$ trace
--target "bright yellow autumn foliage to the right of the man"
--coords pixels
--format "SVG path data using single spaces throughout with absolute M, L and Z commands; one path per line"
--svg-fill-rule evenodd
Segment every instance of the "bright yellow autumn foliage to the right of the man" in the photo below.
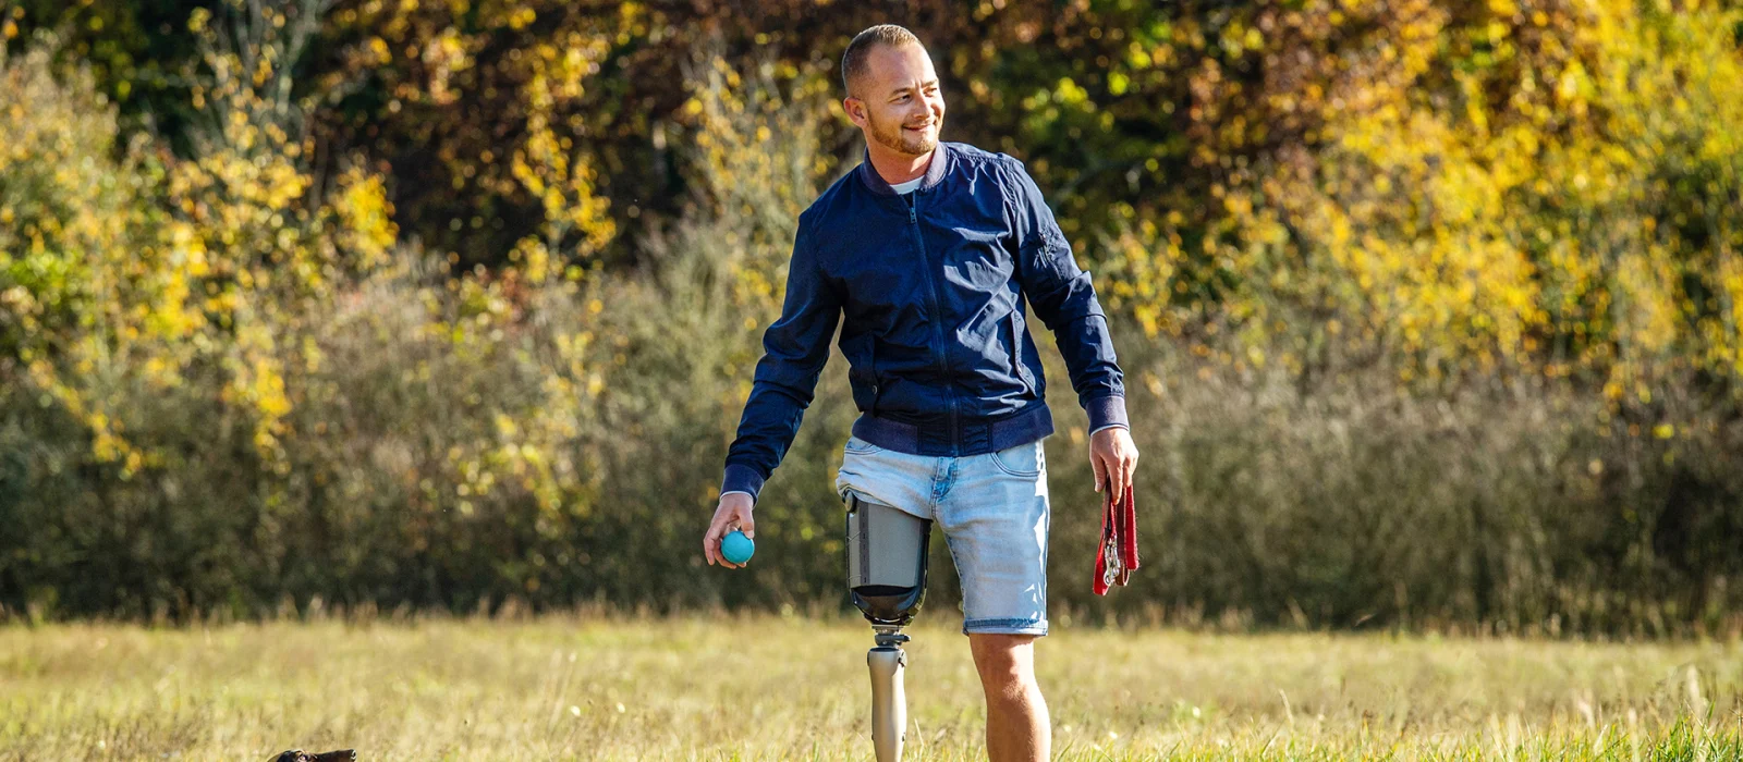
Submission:
M 1116 231 L 1110 303 L 1152 336 L 1384 348 L 1410 383 L 1619 390 L 1684 358 L 1743 378 L 1740 14 L 1600 0 L 1539 10 L 1527 35 L 1511 0 L 1489 5 L 1489 49 L 1457 66 L 1447 9 L 1394 5 L 1408 33 L 1306 87 L 1328 104 L 1314 153 L 1229 172 L 1197 245 L 1168 221 Z

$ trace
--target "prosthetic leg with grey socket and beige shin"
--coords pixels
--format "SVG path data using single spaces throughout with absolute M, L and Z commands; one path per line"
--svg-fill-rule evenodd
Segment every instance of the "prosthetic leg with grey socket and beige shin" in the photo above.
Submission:
M 908 698 L 901 687 L 908 654 L 901 628 L 926 598 L 926 557 L 933 522 L 847 492 L 847 588 L 872 623 L 872 746 L 878 762 L 901 759 Z

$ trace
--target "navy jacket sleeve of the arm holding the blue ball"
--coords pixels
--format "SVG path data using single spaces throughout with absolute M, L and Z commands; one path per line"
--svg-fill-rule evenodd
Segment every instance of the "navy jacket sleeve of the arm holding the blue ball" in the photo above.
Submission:
M 751 395 L 744 400 L 739 435 L 727 449 L 720 494 L 746 492 L 751 501 L 793 444 L 798 423 L 810 405 L 830 339 L 840 322 L 840 294 L 823 280 L 810 237 L 800 221 L 793 257 L 786 271 L 786 301 L 781 318 L 763 332 L 763 357 L 756 360 Z

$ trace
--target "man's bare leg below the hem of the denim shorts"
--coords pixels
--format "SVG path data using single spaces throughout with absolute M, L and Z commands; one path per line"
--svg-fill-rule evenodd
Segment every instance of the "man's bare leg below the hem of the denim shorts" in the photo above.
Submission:
M 969 651 L 987 692 L 987 759 L 1046 760 L 1053 725 L 1035 682 L 1035 637 L 969 633 Z

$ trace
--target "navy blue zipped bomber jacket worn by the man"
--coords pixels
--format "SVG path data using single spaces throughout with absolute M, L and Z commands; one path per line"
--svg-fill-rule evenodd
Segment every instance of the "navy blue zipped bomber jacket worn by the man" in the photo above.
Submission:
M 939 143 L 920 186 L 903 195 L 866 157 L 798 217 L 786 301 L 763 332 L 720 492 L 756 499 L 793 444 L 844 315 L 856 437 L 960 458 L 1053 433 L 1025 296 L 1058 339 L 1089 430 L 1126 426 L 1107 315 L 1023 164 Z

